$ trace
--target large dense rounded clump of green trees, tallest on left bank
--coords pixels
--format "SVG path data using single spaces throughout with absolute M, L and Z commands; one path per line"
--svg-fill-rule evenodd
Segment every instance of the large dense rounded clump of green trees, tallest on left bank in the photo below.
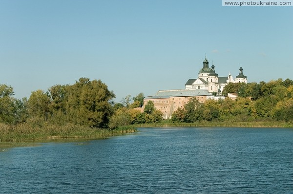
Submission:
M 28 99 L 30 117 L 39 117 L 50 123 L 74 123 L 106 128 L 115 95 L 101 80 L 80 78 L 74 85 L 56 85 L 33 91 Z

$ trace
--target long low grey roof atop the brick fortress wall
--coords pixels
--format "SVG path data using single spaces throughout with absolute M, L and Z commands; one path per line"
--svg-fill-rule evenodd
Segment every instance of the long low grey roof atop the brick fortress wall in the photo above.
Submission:
M 213 96 L 205 89 L 174 89 L 159 90 L 153 96 L 147 96 L 146 99 L 169 98 L 169 97 L 187 97 L 187 96 Z

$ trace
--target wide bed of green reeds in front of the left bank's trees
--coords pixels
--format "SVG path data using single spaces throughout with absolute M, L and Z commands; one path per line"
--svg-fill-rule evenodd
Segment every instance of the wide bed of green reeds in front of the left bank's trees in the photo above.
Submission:
M 65 124 L 55 125 L 41 123 L 32 125 L 21 123 L 8 125 L 0 123 L 0 142 L 21 142 L 65 138 L 107 138 L 135 132 L 134 126 L 119 127 L 114 130 L 91 128 L 81 125 Z

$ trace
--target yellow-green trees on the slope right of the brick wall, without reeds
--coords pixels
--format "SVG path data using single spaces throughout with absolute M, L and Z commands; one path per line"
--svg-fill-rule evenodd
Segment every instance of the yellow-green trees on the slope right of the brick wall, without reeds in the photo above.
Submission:
M 208 100 L 205 104 L 192 99 L 173 113 L 172 121 L 293 121 L 293 80 L 229 83 L 222 94 L 227 97 L 228 93 L 236 93 L 238 97 Z

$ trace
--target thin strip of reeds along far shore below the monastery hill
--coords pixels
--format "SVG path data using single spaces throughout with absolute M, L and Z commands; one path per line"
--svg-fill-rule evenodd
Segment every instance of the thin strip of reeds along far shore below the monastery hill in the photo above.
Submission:
M 253 121 L 253 122 L 208 122 L 200 121 L 197 123 L 145 123 L 145 124 L 135 124 L 135 127 L 163 127 L 163 126 L 206 126 L 206 127 L 293 127 L 292 123 L 286 123 L 284 121 Z

